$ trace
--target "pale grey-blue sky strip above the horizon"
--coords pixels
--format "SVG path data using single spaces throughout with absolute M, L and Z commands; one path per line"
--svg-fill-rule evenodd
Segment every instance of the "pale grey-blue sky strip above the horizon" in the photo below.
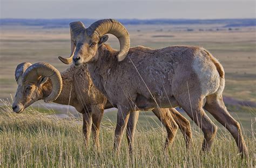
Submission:
M 0 0 L 1 18 L 255 18 L 246 0 Z

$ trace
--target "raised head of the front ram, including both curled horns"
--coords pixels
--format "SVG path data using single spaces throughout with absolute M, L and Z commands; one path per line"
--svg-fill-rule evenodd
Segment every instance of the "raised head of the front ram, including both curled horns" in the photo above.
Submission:
M 114 19 L 98 20 L 85 28 L 82 22 L 70 23 L 71 54 L 69 58 L 59 57 L 64 64 L 80 65 L 97 60 L 98 48 L 109 38 L 107 33 L 116 36 L 120 43 L 117 60 L 122 61 L 130 49 L 130 36 L 125 27 Z

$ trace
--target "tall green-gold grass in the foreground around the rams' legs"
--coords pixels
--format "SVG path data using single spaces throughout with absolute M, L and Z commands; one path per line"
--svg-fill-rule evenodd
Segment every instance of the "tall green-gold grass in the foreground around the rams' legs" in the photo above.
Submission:
M 249 149 L 247 159 L 241 159 L 234 139 L 222 131 L 215 138 L 210 152 L 201 152 L 203 136 L 193 128 L 193 143 L 185 148 L 178 132 L 173 145 L 164 151 L 165 129 L 137 129 L 134 155 L 127 151 L 126 140 L 117 155 L 113 150 L 114 125 L 103 122 L 100 131 L 100 151 L 93 142 L 87 148 L 83 142 L 82 118 L 59 118 L 38 113 L 12 113 L 10 103 L 0 109 L 0 142 L 3 167 L 255 167 L 255 137 L 245 135 Z M 255 121 L 254 121 L 255 122 Z M 254 123 L 252 123 L 254 124 Z

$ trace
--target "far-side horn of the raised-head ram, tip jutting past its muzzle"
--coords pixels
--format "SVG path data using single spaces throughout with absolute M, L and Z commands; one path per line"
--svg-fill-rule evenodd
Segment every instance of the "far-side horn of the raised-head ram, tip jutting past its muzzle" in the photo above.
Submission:
M 82 22 L 71 22 L 70 26 L 70 41 L 71 41 L 71 52 L 69 58 L 58 57 L 64 64 L 71 64 L 76 49 L 76 37 L 85 30 L 85 26 Z

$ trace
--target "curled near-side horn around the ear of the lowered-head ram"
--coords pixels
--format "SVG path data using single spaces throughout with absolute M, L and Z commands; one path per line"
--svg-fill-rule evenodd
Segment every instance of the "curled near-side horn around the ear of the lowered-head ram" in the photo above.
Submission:
M 51 80 L 52 92 L 44 99 L 44 102 L 55 101 L 62 91 L 62 76 L 59 71 L 48 63 L 38 62 L 26 69 L 22 76 L 22 82 L 37 81 L 39 76 L 46 76 Z

